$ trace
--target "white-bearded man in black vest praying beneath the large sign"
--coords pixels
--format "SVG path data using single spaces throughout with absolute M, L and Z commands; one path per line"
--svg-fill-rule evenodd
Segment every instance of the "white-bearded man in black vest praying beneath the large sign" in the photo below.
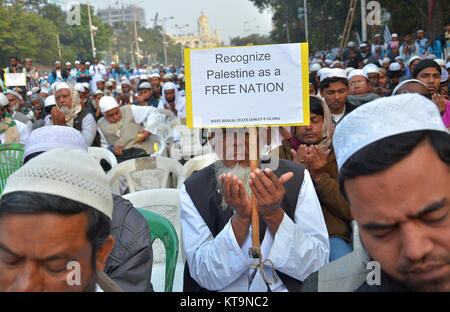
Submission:
M 279 159 L 275 171 L 261 162 L 261 169 L 251 173 L 245 129 L 219 129 L 210 140 L 221 160 L 194 173 L 180 191 L 184 291 L 299 291 L 329 255 L 308 171 Z M 264 261 L 264 275 L 258 270 L 251 285 L 248 277 L 256 262 L 248 253 L 250 190 L 256 197 Z

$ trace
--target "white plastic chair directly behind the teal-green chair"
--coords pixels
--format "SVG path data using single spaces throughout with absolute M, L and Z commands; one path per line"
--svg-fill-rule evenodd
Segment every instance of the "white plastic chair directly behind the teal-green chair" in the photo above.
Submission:
M 184 253 L 183 239 L 181 236 L 180 221 L 180 193 L 177 189 L 154 189 L 129 193 L 123 196 L 129 200 L 134 207 L 143 208 L 166 217 L 175 228 L 179 243 L 177 267 L 173 282 L 173 291 L 183 291 L 184 263 L 186 256 Z M 155 291 L 164 291 L 166 253 L 164 245 L 159 240 L 154 241 L 152 285 Z

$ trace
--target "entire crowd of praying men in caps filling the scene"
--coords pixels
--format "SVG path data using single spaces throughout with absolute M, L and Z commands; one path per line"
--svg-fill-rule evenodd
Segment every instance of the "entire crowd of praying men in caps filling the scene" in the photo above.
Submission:
M 423 42 L 377 35 L 311 59 L 310 124 L 270 136 L 276 169 L 250 170 L 248 129 L 208 132 L 220 157 L 180 188 L 184 291 L 450 291 L 450 54 Z M 87 151 L 152 155 L 167 114 L 186 117 L 183 66 L 58 61 L 41 75 L 12 57 L 5 72 L 27 84 L 0 93 L 0 141 L 25 144 L 0 199 L 0 290 L 151 291 L 147 223 Z

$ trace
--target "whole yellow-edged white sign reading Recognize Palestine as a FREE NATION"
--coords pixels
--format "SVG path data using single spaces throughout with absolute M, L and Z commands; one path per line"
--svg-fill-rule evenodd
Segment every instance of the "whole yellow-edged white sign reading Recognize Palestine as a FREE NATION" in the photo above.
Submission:
M 185 49 L 189 128 L 309 124 L 308 44 Z

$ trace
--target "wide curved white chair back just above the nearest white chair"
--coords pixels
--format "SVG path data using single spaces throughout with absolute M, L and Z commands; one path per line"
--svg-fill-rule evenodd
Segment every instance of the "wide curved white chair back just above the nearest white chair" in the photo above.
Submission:
M 113 193 L 121 195 L 119 177 L 125 179 L 130 193 L 145 189 L 176 188 L 181 169 L 181 164 L 171 158 L 141 157 L 118 164 L 108 172 L 107 177 Z

